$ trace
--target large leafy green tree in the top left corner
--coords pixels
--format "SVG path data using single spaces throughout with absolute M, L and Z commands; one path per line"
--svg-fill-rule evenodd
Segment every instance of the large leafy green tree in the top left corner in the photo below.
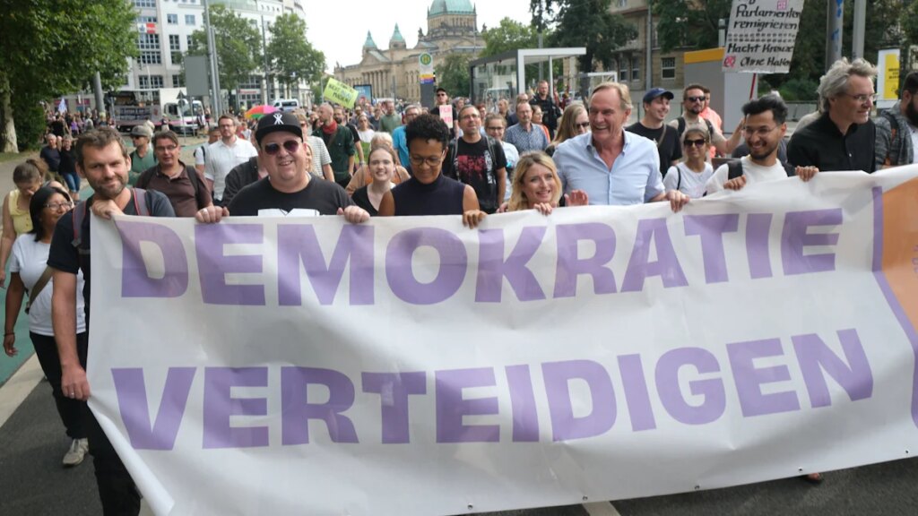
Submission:
M 16 117 L 39 100 L 124 83 L 136 57 L 133 6 L 124 0 L 3 0 L 0 2 L 0 150 L 17 152 Z

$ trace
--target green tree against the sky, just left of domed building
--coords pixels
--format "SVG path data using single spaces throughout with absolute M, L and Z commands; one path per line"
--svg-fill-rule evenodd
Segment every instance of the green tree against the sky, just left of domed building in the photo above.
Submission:
M 285 85 L 287 96 L 291 84 L 297 84 L 300 79 L 315 83 L 325 70 L 325 54 L 313 48 L 306 39 L 306 22 L 293 14 L 274 21 L 267 52 L 271 73 Z

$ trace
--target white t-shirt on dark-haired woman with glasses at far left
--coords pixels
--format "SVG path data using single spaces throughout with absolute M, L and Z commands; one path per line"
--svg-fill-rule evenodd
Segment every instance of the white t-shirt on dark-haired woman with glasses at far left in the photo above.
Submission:
M 29 233 L 19 235 L 16 242 L 13 243 L 9 272 L 18 273 L 29 292 L 39 282 L 39 277 L 48 266 L 50 248 L 50 243 L 35 241 L 35 235 Z M 28 330 L 48 337 L 54 336 L 54 329 L 51 326 L 51 290 L 53 287 L 54 280 L 48 280 L 48 283 L 39 292 L 39 297 L 32 303 L 31 308 L 28 308 Z M 23 298 L 22 302 L 25 306 L 26 299 Z M 84 331 L 86 331 L 86 319 L 83 272 L 81 271 L 76 275 L 76 332 Z

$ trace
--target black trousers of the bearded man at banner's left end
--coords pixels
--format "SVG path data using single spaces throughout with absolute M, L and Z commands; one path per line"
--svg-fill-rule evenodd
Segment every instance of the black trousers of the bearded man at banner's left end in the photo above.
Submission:
M 89 332 L 76 336 L 76 350 L 80 364 L 86 367 Z M 92 388 L 92 386 L 90 386 Z M 84 403 L 84 425 L 89 438 L 89 454 L 93 455 L 95 484 L 99 488 L 104 516 L 137 516 L 140 513 L 140 492 L 130 477 L 128 468 L 121 462 L 108 436 L 95 420 L 95 415 Z

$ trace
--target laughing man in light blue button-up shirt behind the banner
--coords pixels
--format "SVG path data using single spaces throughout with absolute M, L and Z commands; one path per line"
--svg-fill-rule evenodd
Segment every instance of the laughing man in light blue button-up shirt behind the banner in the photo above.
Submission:
M 566 140 L 554 151 L 565 193 L 584 190 L 589 204 L 630 206 L 669 201 L 680 210 L 689 196 L 663 186 L 653 141 L 624 130 L 631 116 L 628 86 L 599 84 L 589 102 L 591 132 Z M 509 131 L 508 131 L 509 132 Z

